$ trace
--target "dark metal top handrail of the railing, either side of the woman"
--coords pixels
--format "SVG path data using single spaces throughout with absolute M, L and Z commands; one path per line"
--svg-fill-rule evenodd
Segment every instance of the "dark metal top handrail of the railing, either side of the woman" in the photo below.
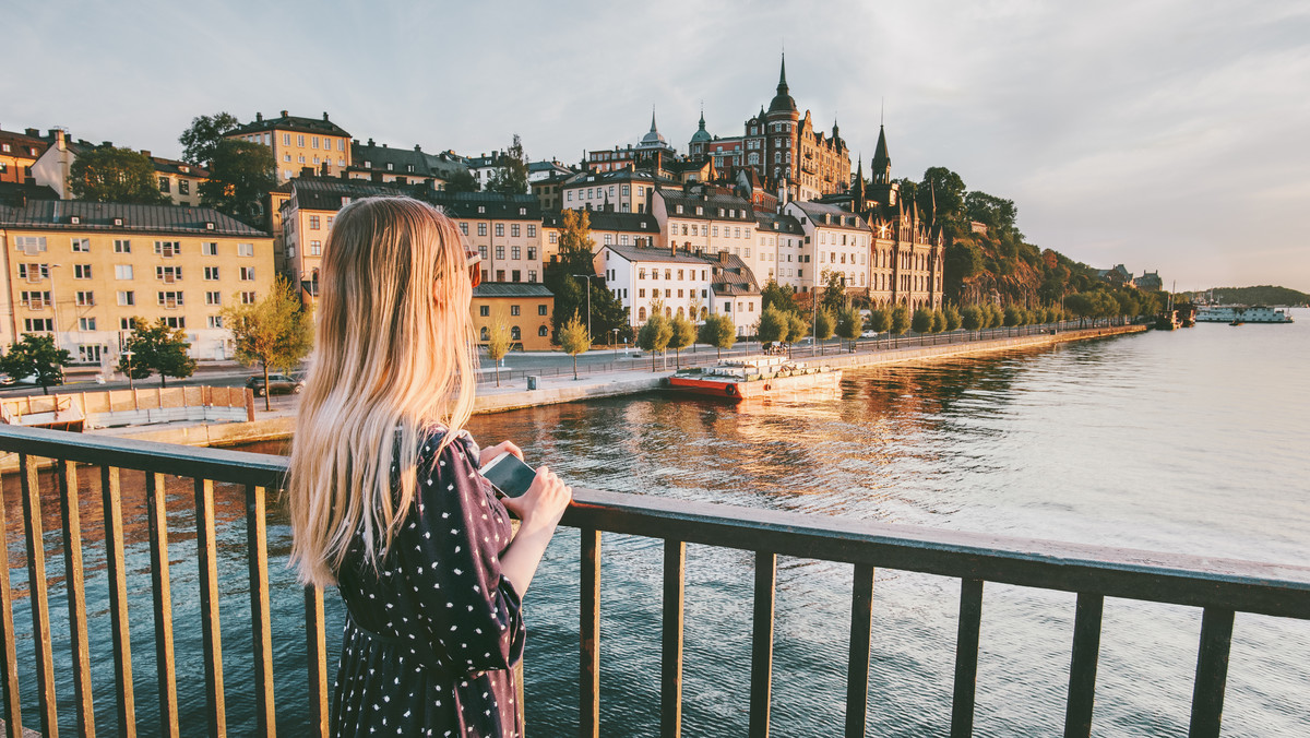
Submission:
M 287 459 L 0 426 L 0 448 L 276 489 Z M 1310 620 L 1310 568 L 575 489 L 563 523 L 903 572 Z

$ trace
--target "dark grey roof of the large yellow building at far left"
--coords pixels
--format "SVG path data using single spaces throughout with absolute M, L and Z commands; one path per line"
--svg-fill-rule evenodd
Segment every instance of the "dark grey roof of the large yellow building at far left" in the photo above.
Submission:
M 72 218 L 79 223 L 72 223 Z M 121 218 L 122 225 L 114 225 Z M 208 225 L 212 224 L 212 228 Z M 0 206 L 0 225 L 51 231 L 194 233 L 212 236 L 269 235 L 210 207 L 123 204 L 89 201 L 28 201 L 26 207 Z

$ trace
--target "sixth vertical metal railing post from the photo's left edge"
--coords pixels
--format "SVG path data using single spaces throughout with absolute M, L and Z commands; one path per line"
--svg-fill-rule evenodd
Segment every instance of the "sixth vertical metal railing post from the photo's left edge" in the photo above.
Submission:
M 200 633 L 210 735 L 227 735 L 223 697 L 223 628 L 219 625 L 219 547 L 214 534 L 214 480 L 195 480 L 195 553 L 200 573 Z

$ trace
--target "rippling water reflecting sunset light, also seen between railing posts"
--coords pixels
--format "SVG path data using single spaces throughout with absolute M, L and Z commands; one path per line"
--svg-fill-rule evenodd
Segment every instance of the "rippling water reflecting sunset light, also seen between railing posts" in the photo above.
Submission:
M 681 499 L 794 510 L 976 532 L 1305 565 L 1310 557 L 1310 311 L 1294 325 L 1199 325 L 1048 350 L 846 371 L 840 397 L 732 408 L 664 395 L 599 400 L 474 418 L 483 442 L 511 438 L 529 461 L 576 485 Z M 278 448 L 263 450 L 276 452 Z M 85 475 L 89 476 L 89 475 Z M 98 509 L 85 480 L 84 516 Z M 124 480 L 128 489 L 130 480 Z M 183 733 L 203 733 L 194 520 L 187 480 L 174 480 L 170 541 Z M 10 531 L 18 498 L 5 485 Z M 253 722 L 245 629 L 244 509 L 219 490 L 224 665 L 233 734 Z M 98 514 L 98 510 L 94 511 Z M 134 665 L 138 717 L 155 733 L 153 625 L 144 511 L 124 511 L 138 543 Z M 58 575 L 58 498 L 43 518 L 56 650 L 67 654 Z M 270 524 L 283 560 L 288 531 Z M 92 520 L 88 530 L 98 530 Z M 48 532 L 54 530 L 54 532 Z M 21 540 L 10 535 L 17 586 Z M 659 725 L 662 543 L 603 543 L 601 720 L 607 735 Z M 107 590 L 98 540 L 85 548 L 93 644 L 107 654 Z M 532 735 L 576 731 L 578 537 L 562 530 L 528 595 Z M 98 572 L 98 574 L 97 574 Z M 279 729 L 300 734 L 303 603 L 274 566 Z M 744 734 L 749 704 L 752 556 L 688 547 L 684 734 Z M 844 720 L 850 617 L 848 565 L 781 558 L 773 730 L 832 735 Z M 942 734 L 950 721 L 959 585 L 879 572 L 874 592 L 870 735 Z M 341 611 L 329 594 L 329 649 Z M 16 611 L 21 644 L 30 615 Z M 1061 731 L 1074 595 L 986 585 L 977 735 Z M 29 634 L 24 634 L 24 631 Z M 1200 611 L 1110 599 L 1104 608 L 1094 730 L 1184 735 Z M 30 646 L 28 648 L 30 654 Z M 67 655 L 60 663 L 67 669 Z M 114 725 L 113 671 L 97 662 L 98 721 Z M 20 665 L 30 665 L 20 649 Z M 1310 625 L 1238 615 L 1224 734 L 1310 734 Z M 34 704 L 30 670 L 25 699 Z M 59 684 L 66 714 L 72 687 Z M 35 713 L 26 716 L 35 725 Z M 69 726 L 71 728 L 71 726 Z

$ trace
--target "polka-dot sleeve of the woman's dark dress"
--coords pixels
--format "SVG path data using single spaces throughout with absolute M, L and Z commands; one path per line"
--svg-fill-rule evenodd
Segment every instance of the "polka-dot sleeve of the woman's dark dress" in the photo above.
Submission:
M 478 476 L 472 443 L 457 439 L 440 455 L 438 446 L 431 439 L 419 455 L 417 514 L 400 536 L 405 578 L 443 666 L 508 669 L 523 655 L 525 636 L 519 594 L 500 574 L 510 516 Z

